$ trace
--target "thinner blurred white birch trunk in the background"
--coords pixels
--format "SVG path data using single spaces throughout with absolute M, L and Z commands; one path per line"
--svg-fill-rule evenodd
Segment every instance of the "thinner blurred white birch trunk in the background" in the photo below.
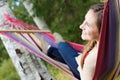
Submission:
M 35 22 L 35 24 L 40 28 L 40 29 L 48 29 L 47 24 L 45 23 L 45 21 L 43 21 L 42 19 L 40 19 L 39 17 L 37 17 L 33 11 L 33 4 L 31 3 L 30 0 L 23 0 L 23 5 L 26 8 L 26 10 L 28 11 L 29 15 L 33 18 L 33 21 Z

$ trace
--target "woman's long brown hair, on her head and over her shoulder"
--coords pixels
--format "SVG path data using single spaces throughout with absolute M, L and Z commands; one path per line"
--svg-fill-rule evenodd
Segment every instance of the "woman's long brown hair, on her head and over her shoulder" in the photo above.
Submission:
M 100 33 L 104 4 L 92 5 L 89 9 L 92 9 L 97 14 L 97 23 L 96 24 L 97 24 L 97 28 Z M 95 44 L 96 44 L 95 40 L 88 41 L 88 43 L 86 44 L 86 46 L 83 50 L 82 58 L 81 58 L 82 62 L 80 62 L 82 68 L 83 68 L 83 60 L 84 60 L 85 54 L 88 53 L 90 50 L 92 50 L 93 47 L 95 46 Z

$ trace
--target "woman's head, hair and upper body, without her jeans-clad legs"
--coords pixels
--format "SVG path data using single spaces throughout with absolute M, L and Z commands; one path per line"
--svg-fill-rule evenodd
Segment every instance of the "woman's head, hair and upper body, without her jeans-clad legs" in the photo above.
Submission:
M 82 80 L 92 80 L 94 76 L 103 8 L 103 4 L 91 6 L 80 26 L 82 39 L 88 41 L 83 54 L 76 58 Z

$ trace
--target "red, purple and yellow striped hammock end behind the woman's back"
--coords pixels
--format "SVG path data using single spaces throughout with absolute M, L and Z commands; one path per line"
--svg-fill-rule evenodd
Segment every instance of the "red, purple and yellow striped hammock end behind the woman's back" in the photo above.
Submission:
M 120 0 L 108 0 L 93 80 L 115 80 L 120 74 Z

